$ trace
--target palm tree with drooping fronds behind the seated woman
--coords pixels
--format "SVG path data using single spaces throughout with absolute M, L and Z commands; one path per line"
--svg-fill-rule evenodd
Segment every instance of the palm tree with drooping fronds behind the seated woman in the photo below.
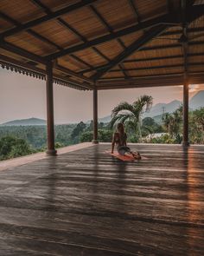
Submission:
M 110 126 L 113 127 L 116 123 L 126 123 L 134 132 L 138 133 L 140 141 L 142 140 L 141 124 L 144 112 L 150 110 L 153 103 L 152 96 L 143 95 L 132 104 L 121 102 L 112 109 L 112 121 Z

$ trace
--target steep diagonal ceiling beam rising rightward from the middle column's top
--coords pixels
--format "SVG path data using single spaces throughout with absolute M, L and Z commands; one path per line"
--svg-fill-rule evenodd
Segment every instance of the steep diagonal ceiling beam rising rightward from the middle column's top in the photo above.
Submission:
M 117 66 L 120 62 L 123 62 L 125 58 L 131 56 L 132 53 L 135 51 L 141 49 L 144 44 L 149 43 L 150 40 L 160 35 L 163 30 L 166 30 L 168 28 L 167 25 L 160 25 L 156 28 L 152 28 L 145 32 L 143 36 L 141 36 L 139 39 L 137 39 L 134 43 L 131 43 L 131 45 L 125 49 L 122 53 L 120 53 L 118 56 L 116 56 L 111 62 L 107 64 L 107 66 L 104 69 L 100 69 L 97 74 L 92 75 L 92 80 L 98 80 L 101 76 L 105 75 L 106 72 L 108 72 L 110 69 Z

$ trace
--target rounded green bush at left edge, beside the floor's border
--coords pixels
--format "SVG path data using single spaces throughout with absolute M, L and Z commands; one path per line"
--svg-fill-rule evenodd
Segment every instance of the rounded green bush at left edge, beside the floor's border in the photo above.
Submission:
M 32 153 L 35 153 L 35 150 L 22 139 L 5 136 L 0 140 L 0 161 Z

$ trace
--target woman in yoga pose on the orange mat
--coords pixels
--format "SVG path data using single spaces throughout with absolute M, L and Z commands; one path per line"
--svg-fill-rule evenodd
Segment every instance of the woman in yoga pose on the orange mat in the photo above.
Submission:
M 124 124 L 118 123 L 118 132 L 115 132 L 112 136 L 112 154 L 115 144 L 117 145 L 118 154 L 133 156 L 135 159 L 141 159 L 141 156 L 137 152 L 132 152 L 131 148 L 127 147 L 127 135 L 124 133 Z

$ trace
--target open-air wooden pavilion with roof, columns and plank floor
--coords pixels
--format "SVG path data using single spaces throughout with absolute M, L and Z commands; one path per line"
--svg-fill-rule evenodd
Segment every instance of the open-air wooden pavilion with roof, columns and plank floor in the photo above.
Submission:
M 1 67 L 45 80 L 48 113 L 47 156 L 0 174 L 0 254 L 204 254 L 204 147 L 188 145 L 204 1 L 1 0 L 0 24 Z M 57 156 L 54 83 L 93 93 L 93 143 Z M 132 145 L 137 163 L 104 154 L 100 89 L 178 85 L 182 145 Z

